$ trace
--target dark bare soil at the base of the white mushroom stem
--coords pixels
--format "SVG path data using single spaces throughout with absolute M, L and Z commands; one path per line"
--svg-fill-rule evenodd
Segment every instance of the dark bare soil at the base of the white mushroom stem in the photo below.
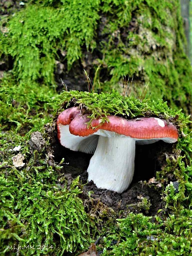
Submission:
M 88 177 L 87 173 L 84 173 L 83 176 Z M 83 199 L 88 199 L 87 194 L 89 191 L 92 191 L 91 197 L 93 199 L 112 208 L 114 212 L 119 213 L 120 217 L 126 217 L 129 212 L 142 212 L 145 215 L 154 216 L 160 208 L 164 208 L 160 195 L 161 189 L 148 184 L 132 183 L 127 190 L 119 194 L 114 191 L 97 188 L 93 181 L 90 181 L 84 185 Z M 142 207 L 140 199 L 142 197 L 150 200 L 149 211 Z

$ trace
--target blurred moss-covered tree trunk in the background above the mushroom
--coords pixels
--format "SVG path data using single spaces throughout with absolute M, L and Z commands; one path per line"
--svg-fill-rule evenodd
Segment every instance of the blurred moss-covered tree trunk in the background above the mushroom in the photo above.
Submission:
M 121 87 L 123 75 L 133 76 L 131 93 L 138 96 L 149 82 L 147 97 L 190 114 L 192 70 L 179 2 L 29 1 L 3 19 L 0 52 L 12 57 L 20 81 L 52 86 L 62 77 L 69 87 L 85 88 L 83 68 L 93 78 L 100 66 L 103 91 Z

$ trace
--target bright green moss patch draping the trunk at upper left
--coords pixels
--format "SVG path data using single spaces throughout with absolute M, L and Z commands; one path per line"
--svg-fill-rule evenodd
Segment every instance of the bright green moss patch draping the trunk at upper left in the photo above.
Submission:
M 81 58 L 82 45 L 93 45 L 98 4 L 80 0 L 63 0 L 60 8 L 26 4 L 25 9 L 15 13 L 8 21 L 8 33 L 1 33 L 0 52 L 14 58 L 13 71 L 18 79 L 43 79 L 53 84 L 54 58 L 59 48 L 66 49 L 68 68 Z

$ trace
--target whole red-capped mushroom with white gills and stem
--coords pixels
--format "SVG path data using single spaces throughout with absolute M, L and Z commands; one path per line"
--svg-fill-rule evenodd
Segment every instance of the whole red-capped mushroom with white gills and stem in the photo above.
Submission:
M 108 116 L 108 122 L 92 121 L 72 107 L 57 119 L 58 139 L 62 146 L 74 151 L 94 153 L 88 172 L 98 188 L 122 193 L 132 182 L 134 174 L 135 143 L 150 144 L 158 140 L 174 143 L 178 140 L 177 128 L 156 117 L 127 120 Z

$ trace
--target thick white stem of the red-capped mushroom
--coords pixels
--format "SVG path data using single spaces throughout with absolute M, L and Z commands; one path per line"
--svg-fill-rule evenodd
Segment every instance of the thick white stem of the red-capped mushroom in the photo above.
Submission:
M 100 136 L 87 169 L 88 180 L 93 180 L 98 188 L 122 193 L 132 182 L 134 160 L 134 139 Z

